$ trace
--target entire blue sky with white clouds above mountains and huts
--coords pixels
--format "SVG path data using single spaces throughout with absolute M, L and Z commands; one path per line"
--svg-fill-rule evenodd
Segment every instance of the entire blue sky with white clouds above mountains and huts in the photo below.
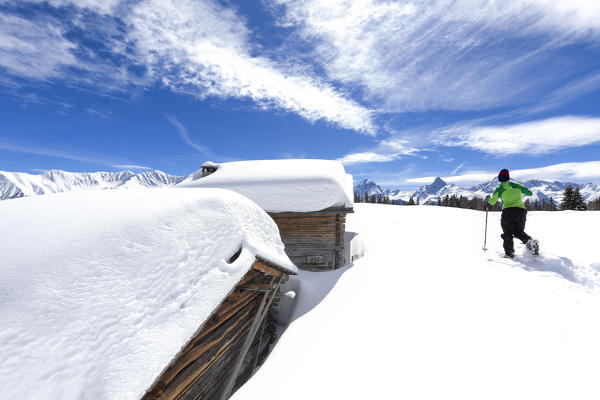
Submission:
M 600 182 L 600 3 L 0 0 L 0 170 Z

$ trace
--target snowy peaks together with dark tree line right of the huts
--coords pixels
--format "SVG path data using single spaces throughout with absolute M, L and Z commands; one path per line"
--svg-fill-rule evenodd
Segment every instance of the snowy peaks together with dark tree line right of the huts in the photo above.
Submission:
M 377 203 L 392 205 L 435 205 L 442 207 L 485 209 L 485 196 L 493 193 L 498 182 L 493 179 L 469 189 L 448 184 L 436 178 L 415 192 L 383 189 L 375 182 L 365 179 L 354 187 L 355 203 Z M 600 210 L 600 187 L 593 183 L 585 185 L 563 182 L 526 181 L 533 196 L 524 201 L 525 208 L 532 211 L 557 210 Z M 489 206 L 490 210 L 501 210 L 499 202 Z

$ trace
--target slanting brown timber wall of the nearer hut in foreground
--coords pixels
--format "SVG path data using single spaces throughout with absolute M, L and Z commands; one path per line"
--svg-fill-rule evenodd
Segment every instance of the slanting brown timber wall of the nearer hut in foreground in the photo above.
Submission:
M 255 261 L 143 399 L 221 400 L 233 394 L 276 339 L 279 285 L 287 279 L 277 266 Z

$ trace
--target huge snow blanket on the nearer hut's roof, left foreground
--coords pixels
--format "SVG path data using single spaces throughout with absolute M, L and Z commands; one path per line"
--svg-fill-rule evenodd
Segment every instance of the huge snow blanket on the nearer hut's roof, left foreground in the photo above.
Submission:
M 22 198 L 0 220 L 1 398 L 139 398 L 255 256 L 296 271 L 227 190 Z

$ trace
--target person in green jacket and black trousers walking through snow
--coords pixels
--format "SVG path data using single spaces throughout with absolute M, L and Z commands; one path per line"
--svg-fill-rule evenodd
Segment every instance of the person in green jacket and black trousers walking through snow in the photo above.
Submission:
M 533 193 L 520 183 L 510 182 L 510 174 L 507 169 L 500 171 L 498 181 L 500 181 L 500 184 L 494 190 L 494 194 L 487 196 L 485 199 L 491 205 L 496 204 L 499 198 L 502 200 L 500 225 L 502 226 L 503 233 L 500 236 L 504 240 L 504 253 L 510 258 L 515 256 L 513 237 L 516 237 L 534 255 L 539 254 L 538 241 L 525 233 L 527 210 L 523 205 L 522 195 L 531 196 Z

